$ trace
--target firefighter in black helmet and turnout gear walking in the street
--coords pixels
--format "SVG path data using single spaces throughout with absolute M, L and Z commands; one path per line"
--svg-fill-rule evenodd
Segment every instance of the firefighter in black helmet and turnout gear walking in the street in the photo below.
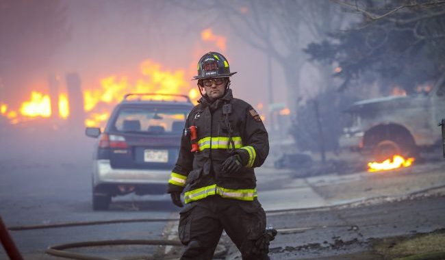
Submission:
M 168 193 L 180 211 L 181 259 L 212 259 L 226 231 L 242 259 L 269 259 L 266 213 L 257 199 L 253 168 L 264 163 L 268 133 L 251 105 L 232 96 L 227 59 L 216 52 L 198 63 L 201 99 L 190 112 Z M 204 93 L 203 93 L 204 92 Z

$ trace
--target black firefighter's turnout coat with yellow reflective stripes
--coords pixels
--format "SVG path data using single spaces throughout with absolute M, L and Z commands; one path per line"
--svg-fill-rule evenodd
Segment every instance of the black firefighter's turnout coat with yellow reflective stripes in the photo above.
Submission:
M 254 200 L 257 197 L 253 168 L 261 166 L 269 152 L 268 133 L 251 105 L 234 99 L 231 89 L 210 103 L 201 98 L 186 120 L 197 128 L 199 151 L 192 153 L 190 136 L 183 135 L 168 192 L 184 192 L 185 202 L 207 196 Z M 228 174 L 223 161 L 238 154 L 244 167 Z

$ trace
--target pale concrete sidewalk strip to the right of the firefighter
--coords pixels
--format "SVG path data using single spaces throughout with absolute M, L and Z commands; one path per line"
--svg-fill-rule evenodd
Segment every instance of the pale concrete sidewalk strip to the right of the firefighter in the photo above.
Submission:
M 328 207 L 373 198 L 387 199 L 445 186 L 445 162 L 387 172 L 328 174 L 302 179 L 292 179 L 290 170 L 259 168 L 255 171 L 259 185 L 258 198 L 266 211 Z M 281 187 L 268 190 L 267 183 L 271 181 Z

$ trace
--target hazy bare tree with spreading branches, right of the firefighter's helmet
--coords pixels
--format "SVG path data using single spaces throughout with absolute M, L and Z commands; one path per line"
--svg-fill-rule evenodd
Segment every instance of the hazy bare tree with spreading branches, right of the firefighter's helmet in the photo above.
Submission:
M 287 82 L 288 105 L 293 111 L 302 94 L 301 70 L 307 60 L 303 47 L 310 40 L 340 28 L 342 23 L 342 16 L 336 12 L 339 8 L 321 0 L 196 1 L 183 7 L 211 10 L 217 14 L 215 20 L 228 23 L 239 38 L 279 64 Z M 326 73 L 325 65 L 320 64 L 318 68 L 322 70 L 320 75 L 328 75 L 322 80 L 322 85 L 326 85 L 331 72 Z

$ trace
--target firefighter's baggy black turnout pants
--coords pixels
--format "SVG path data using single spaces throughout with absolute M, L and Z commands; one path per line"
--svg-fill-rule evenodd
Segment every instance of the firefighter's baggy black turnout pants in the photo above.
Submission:
M 238 247 L 244 260 L 269 259 L 255 250 L 266 229 L 266 213 L 253 201 L 209 196 L 186 205 L 179 219 L 179 239 L 186 246 L 181 260 L 210 260 L 223 230 Z

